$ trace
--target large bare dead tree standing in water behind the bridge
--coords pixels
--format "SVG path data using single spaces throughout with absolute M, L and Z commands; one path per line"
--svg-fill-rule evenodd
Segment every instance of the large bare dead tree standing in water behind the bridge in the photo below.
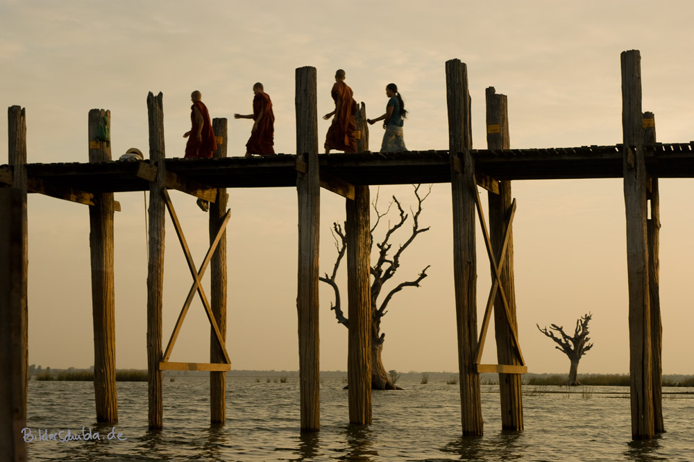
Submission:
M 380 302 L 380 305 L 378 304 L 377 300 L 378 296 L 381 294 L 383 284 L 388 282 L 391 277 L 395 275 L 396 271 L 400 267 L 400 257 L 403 255 L 405 249 L 419 234 L 429 230 L 429 227 L 420 228 L 419 216 L 422 212 L 422 203 L 431 193 L 431 186 L 429 187 L 429 191 L 427 191 L 424 196 L 420 195 L 420 187 L 421 185 L 414 186 L 414 196 L 417 198 L 417 207 L 416 210 L 410 209 L 413 221 L 412 234 L 409 235 L 409 238 L 404 243 L 400 244 L 400 247 L 398 247 L 392 256 L 391 248 L 393 247 L 393 244 L 390 243 L 390 239 L 393 232 L 396 232 L 396 230 L 405 224 L 409 218 L 409 215 L 405 213 L 405 210 L 403 209 L 402 205 L 400 205 L 400 201 L 398 198 L 396 198 L 396 196 L 393 196 L 393 199 L 388 205 L 388 209 L 383 213 L 378 211 L 378 193 L 376 194 L 376 198 L 373 200 L 373 203 L 371 203 L 376 214 L 376 221 L 371 227 L 372 252 L 373 232 L 378 227 L 381 219 L 386 216 L 388 212 L 390 212 L 393 204 L 398 207 L 400 212 L 398 221 L 394 225 L 391 225 L 389 222 L 388 230 L 385 233 L 384 238 L 382 241 L 376 243 L 376 248 L 378 248 L 378 260 L 375 262 L 375 264 L 373 264 L 373 266 L 371 266 L 371 276 L 373 277 L 371 282 L 371 388 L 375 390 L 395 390 L 398 388 L 393 379 L 391 379 L 389 374 L 386 372 L 386 369 L 383 366 L 383 361 L 381 360 L 383 342 L 385 340 L 385 334 L 381 332 L 381 318 L 388 312 L 386 311 L 386 307 L 393 296 L 399 291 L 403 290 L 405 287 L 418 287 L 419 283 L 425 277 L 427 277 L 426 271 L 429 268 L 429 266 L 426 266 L 414 280 L 400 282 L 400 284 L 393 287 L 393 289 L 388 292 L 387 296 L 385 296 L 385 298 L 383 298 L 383 300 Z M 345 327 L 348 327 L 349 320 L 344 316 L 344 313 L 340 307 L 340 291 L 337 283 L 335 282 L 337 269 L 339 268 L 342 257 L 344 257 L 347 249 L 347 240 L 344 230 L 337 222 L 332 223 L 332 237 L 335 238 L 337 260 L 335 261 L 335 266 L 332 268 L 332 274 L 328 275 L 328 273 L 325 273 L 325 277 L 321 277 L 320 280 L 332 286 L 332 289 L 335 291 L 335 303 L 330 304 L 330 309 L 335 311 L 335 318 L 337 318 L 337 322 Z

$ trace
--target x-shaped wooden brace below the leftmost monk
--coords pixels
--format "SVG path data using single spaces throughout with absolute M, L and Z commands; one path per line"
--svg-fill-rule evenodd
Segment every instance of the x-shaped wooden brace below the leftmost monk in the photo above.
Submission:
M 162 359 L 162 362 L 167 362 L 169 361 L 169 357 L 171 356 L 171 350 L 174 350 L 174 343 L 176 343 L 176 337 L 178 337 L 178 332 L 180 331 L 181 325 L 183 325 L 183 319 L 185 318 L 185 314 L 188 312 L 188 307 L 190 307 L 190 303 L 193 301 L 193 298 L 195 296 L 195 293 L 197 292 L 200 294 L 200 300 L 203 302 L 203 306 L 205 307 L 205 313 L 208 315 L 208 319 L 210 320 L 210 325 L 212 325 L 212 329 L 214 329 L 214 334 L 217 336 L 217 341 L 219 342 L 219 348 L 221 348 L 221 351 L 224 353 L 224 360 L 226 364 L 230 364 L 231 361 L 229 359 L 229 354 L 226 352 L 226 345 L 224 343 L 224 340 L 221 338 L 221 332 L 219 332 L 219 326 L 217 325 L 217 320 L 214 319 L 214 315 L 212 314 L 212 309 L 210 308 L 210 303 L 208 302 L 207 296 L 205 296 L 205 291 L 203 290 L 203 284 L 201 284 L 201 279 L 203 277 L 203 274 L 205 273 L 205 269 L 208 268 L 208 264 L 210 264 L 210 259 L 212 259 L 212 254 L 214 254 L 214 250 L 217 248 L 217 245 L 219 244 L 219 240 L 221 239 L 221 235 L 224 233 L 224 230 L 226 229 L 226 225 L 229 222 L 230 218 L 230 210 L 226 211 L 226 214 L 224 215 L 224 218 L 219 225 L 219 230 L 217 230 L 217 235 L 214 237 L 214 241 L 212 241 L 212 244 L 210 245 L 210 248 L 208 249 L 208 253 L 205 255 L 205 259 L 203 260 L 203 264 L 201 264 L 200 269 L 196 271 L 195 269 L 195 264 L 193 262 L 193 257 L 190 253 L 190 250 L 188 248 L 187 243 L 185 242 L 185 237 L 183 236 L 183 229 L 180 227 L 180 223 L 178 222 L 178 216 L 176 216 L 176 210 L 174 210 L 174 204 L 171 203 L 171 198 L 169 197 L 169 193 L 166 189 L 164 189 L 164 200 L 167 203 L 167 209 L 169 209 L 169 215 L 171 216 L 171 221 L 174 222 L 174 227 L 176 228 L 176 234 L 178 234 L 178 240 L 180 241 L 180 246 L 183 247 L 183 253 L 185 253 L 185 259 L 188 262 L 188 268 L 190 268 L 190 274 L 193 277 L 193 285 L 190 287 L 190 291 L 188 292 L 188 296 L 185 299 L 185 304 L 183 305 L 183 309 L 180 310 L 180 314 L 178 315 L 178 320 L 176 321 L 176 327 L 174 327 L 174 332 L 171 333 L 171 339 L 169 339 L 169 345 L 167 345 L 167 350 L 164 352 L 164 359 Z

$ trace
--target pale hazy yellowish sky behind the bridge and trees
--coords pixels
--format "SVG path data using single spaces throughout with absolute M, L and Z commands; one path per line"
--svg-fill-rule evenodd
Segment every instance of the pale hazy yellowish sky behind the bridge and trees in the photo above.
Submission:
M 689 1 L 0 1 L 1 105 L 26 108 L 28 162 L 87 162 L 87 113 L 111 111 L 112 156 L 148 152 L 146 96 L 164 94 L 167 157 L 183 157 L 189 95 L 229 119 L 229 155 L 243 155 L 253 83 L 271 96 L 275 149 L 296 151 L 294 71 L 318 74 L 318 113 L 333 108 L 335 69 L 346 70 L 369 117 L 396 83 L 409 110 L 411 150 L 447 149 L 445 62 L 468 67 L 473 147 L 486 148 L 484 89 L 509 103 L 511 147 L 621 142 L 620 52 L 641 51 L 643 110 L 660 142 L 694 139 L 694 40 Z M 560 6 L 561 5 L 561 6 Z M 559 10 L 558 8 L 561 8 Z M 328 121 L 319 119 L 322 146 Z M 371 128 L 371 150 L 382 132 Z M 1 144 L 0 163 L 6 163 Z M 689 357 L 694 246 L 691 179 L 661 180 L 663 373 L 694 373 Z M 412 187 L 382 187 L 412 204 Z M 573 331 L 593 313 L 595 343 L 579 373 L 628 373 L 627 268 L 622 180 L 513 183 L 516 303 L 532 373 L 566 373 L 568 359 L 535 327 Z M 230 189 L 228 352 L 235 369 L 298 369 L 296 189 Z M 375 187 L 371 189 L 375 196 Z M 208 217 L 194 198 L 171 194 L 196 264 Z M 486 194 L 482 194 L 486 205 Z M 119 193 L 115 215 L 116 366 L 146 368 L 146 237 L 142 192 Z M 321 190 L 321 273 L 332 268 L 332 221 L 344 198 Z M 485 211 L 485 215 L 487 212 Z M 393 217 L 394 219 L 394 217 Z M 416 277 L 383 318 L 387 369 L 457 371 L 450 185 L 434 185 L 416 239 L 393 278 Z M 87 207 L 32 194 L 29 225 L 29 362 L 94 363 Z M 405 239 L 409 225 L 403 227 Z M 191 284 L 167 216 L 164 346 Z M 378 234 L 377 234 L 378 237 Z M 477 232 L 478 318 L 491 284 Z M 343 266 L 346 266 L 344 264 Z M 344 268 L 343 268 L 344 269 Z M 346 273 L 343 271 L 343 286 Z M 208 277 L 205 278 L 208 282 Z M 209 291 L 208 291 L 209 293 Z M 346 303 L 346 288 L 342 291 Z M 347 330 L 321 283 L 321 370 L 346 370 Z M 196 298 L 171 361 L 209 361 L 209 324 Z M 493 332 L 493 325 L 490 327 Z M 493 334 L 484 363 L 496 363 Z M 687 353 L 685 353 L 687 352 Z

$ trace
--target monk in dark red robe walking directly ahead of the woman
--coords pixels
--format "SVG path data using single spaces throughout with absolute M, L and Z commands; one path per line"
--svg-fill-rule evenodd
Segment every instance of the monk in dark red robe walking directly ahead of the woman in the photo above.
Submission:
M 345 83 L 345 71 L 337 69 L 335 72 L 335 85 L 330 92 L 335 101 L 335 110 L 328 112 L 323 119 L 332 119 L 328 135 L 325 135 L 325 153 L 330 154 L 330 149 L 345 151 L 346 153 L 357 152 L 357 121 L 354 118 L 357 112 L 357 101 L 353 99 L 352 89 Z

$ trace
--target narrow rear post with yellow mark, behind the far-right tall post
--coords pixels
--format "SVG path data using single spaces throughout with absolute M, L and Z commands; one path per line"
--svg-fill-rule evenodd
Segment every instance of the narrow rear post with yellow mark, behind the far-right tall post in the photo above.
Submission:
M 643 113 L 644 144 L 654 144 L 655 116 Z M 660 204 L 658 177 L 651 176 L 650 219 L 648 219 L 648 289 L 650 291 L 651 355 L 653 370 L 653 419 L 654 431 L 665 433 L 663 423 L 663 324 L 660 315 Z

